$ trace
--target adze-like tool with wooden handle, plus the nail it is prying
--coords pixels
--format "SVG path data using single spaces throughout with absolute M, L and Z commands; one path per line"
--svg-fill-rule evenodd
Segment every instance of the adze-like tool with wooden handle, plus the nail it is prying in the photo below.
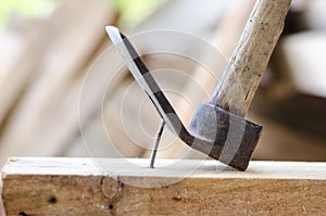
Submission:
M 284 28 L 291 0 L 258 0 L 244 31 L 224 71 L 210 102 L 199 105 L 188 127 L 160 89 L 130 41 L 116 27 L 106 26 L 134 78 L 153 102 L 163 122 L 186 144 L 238 170 L 246 170 L 259 141 L 262 126 L 247 120 L 246 114 Z

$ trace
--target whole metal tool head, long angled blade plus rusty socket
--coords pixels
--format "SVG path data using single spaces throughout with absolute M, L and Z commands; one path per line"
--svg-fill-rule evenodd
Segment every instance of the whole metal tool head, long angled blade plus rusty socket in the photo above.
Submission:
M 146 91 L 168 128 L 189 147 L 239 170 L 248 167 L 262 127 L 210 103 L 201 103 L 187 129 L 130 41 L 106 27 L 136 81 Z

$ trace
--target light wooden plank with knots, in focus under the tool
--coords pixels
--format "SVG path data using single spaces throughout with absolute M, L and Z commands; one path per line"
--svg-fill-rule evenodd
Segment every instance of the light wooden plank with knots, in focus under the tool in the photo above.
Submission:
M 148 160 L 126 162 L 10 158 L 2 169 L 7 214 L 323 215 L 326 211 L 326 163 L 251 162 L 241 173 L 222 170 L 216 161 L 159 160 L 155 169 L 146 168 Z M 99 163 L 105 167 L 100 169 Z M 186 173 L 192 174 L 185 177 Z M 164 187 L 135 187 L 178 178 Z

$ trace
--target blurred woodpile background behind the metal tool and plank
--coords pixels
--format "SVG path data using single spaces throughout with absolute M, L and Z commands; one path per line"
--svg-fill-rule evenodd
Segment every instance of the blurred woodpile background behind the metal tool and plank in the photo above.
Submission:
M 254 2 L 1 0 L 0 163 L 8 156 L 149 157 L 160 117 L 125 67 L 118 76 L 112 74 L 102 107 L 91 100 L 83 104 L 79 122 L 83 84 L 90 66 L 96 64 L 93 69 L 109 76 L 115 73 L 116 58 L 110 53 L 96 61 L 111 46 L 104 27 L 118 26 L 126 35 L 178 30 L 220 51 L 215 56 L 187 40 L 175 45 L 216 63 L 214 76 L 187 58 L 143 56 L 187 125 L 217 85 L 226 64 L 221 56 L 230 56 Z M 292 1 L 248 116 L 264 126 L 254 160 L 326 161 L 325 9 L 325 0 Z M 146 43 L 135 46 L 147 49 Z M 104 78 L 90 81 L 88 93 L 95 101 L 103 97 Z M 162 142 L 160 157 L 202 157 L 167 129 Z

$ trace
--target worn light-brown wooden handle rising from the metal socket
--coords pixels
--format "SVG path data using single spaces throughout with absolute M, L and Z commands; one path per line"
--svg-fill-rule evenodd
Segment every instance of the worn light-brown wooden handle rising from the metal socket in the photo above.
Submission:
M 291 0 L 258 0 L 211 103 L 244 117 L 285 25 Z

